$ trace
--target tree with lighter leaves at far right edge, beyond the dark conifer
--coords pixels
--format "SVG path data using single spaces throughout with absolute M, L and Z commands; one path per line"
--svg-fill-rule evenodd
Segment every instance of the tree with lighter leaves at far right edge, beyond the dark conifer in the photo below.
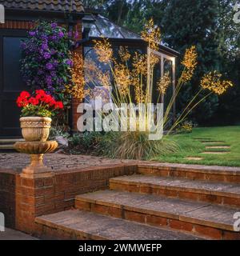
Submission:
M 233 22 L 235 3 L 235 0 L 218 2 L 219 68 L 223 74 L 227 74 L 234 81 L 234 87 L 220 98 L 218 112 L 214 119 L 226 124 L 240 121 L 240 24 Z

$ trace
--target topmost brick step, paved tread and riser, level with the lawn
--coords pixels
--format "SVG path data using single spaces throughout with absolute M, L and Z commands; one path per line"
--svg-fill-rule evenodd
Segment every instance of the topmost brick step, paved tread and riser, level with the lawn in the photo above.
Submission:
M 240 183 L 240 167 L 146 162 L 138 164 L 138 174 Z

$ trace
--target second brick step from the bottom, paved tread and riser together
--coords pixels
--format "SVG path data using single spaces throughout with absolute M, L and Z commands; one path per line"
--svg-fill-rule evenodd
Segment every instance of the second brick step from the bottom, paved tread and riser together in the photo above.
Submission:
M 240 239 L 240 233 L 234 232 L 233 227 L 233 216 L 240 209 L 226 206 L 153 194 L 103 190 L 78 195 L 75 207 L 147 225 L 167 226 L 174 230 L 206 235 L 209 238 Z

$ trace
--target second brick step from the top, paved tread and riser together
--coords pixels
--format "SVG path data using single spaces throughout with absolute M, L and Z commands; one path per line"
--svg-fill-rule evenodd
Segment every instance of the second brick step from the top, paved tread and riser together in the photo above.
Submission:
M 240 208 L 240 185 L 233 183 L 134 174 L 110 178 L 110 190 L 161 194 Z

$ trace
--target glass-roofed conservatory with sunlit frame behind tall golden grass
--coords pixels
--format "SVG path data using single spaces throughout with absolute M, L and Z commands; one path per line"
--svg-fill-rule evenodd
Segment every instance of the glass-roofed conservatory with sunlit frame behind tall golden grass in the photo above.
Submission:
M 103 17 L 101 14 L 86 14 L 82 18 L 82 35 L 83 39 L 77 42 L 76 47 L 82 45 L 82 51 L 85 61 L 95 62 L 101 70 L 107 71 L 107 66 L 98 62 L 96 53 L 94 52 L 94 40 L 102 40 L 102 38 L 109 38 L 109 41 L 117 53 L 120 46 L 127 46 L 130 53 L 138 51 L 139 53 L 154 54 L 159 58 L 159 62 L 154 68 L 154 83 L 150 88 L 151 102 L 157 102 L 156 82 L 166 72 L 170 74 L 172 86 L 166 92 L 165 98 L 162 102 L 170 100 L 170 97 L 175 90 L 175 72 L 176 72 L 176 58 L 178 52 L 170 49 L 167 46 L 159 45 L 159 50 L 151 50 L 148 48 L 146 42 L 141 38 L 140 34 L 136 34 L 122 26 L 118 26 L 110 22 L 108 18 Z M 148 75 L 150 73 L 148 72 Z M 173 106 L 173 115 L 175 115 L 175 106 Z

